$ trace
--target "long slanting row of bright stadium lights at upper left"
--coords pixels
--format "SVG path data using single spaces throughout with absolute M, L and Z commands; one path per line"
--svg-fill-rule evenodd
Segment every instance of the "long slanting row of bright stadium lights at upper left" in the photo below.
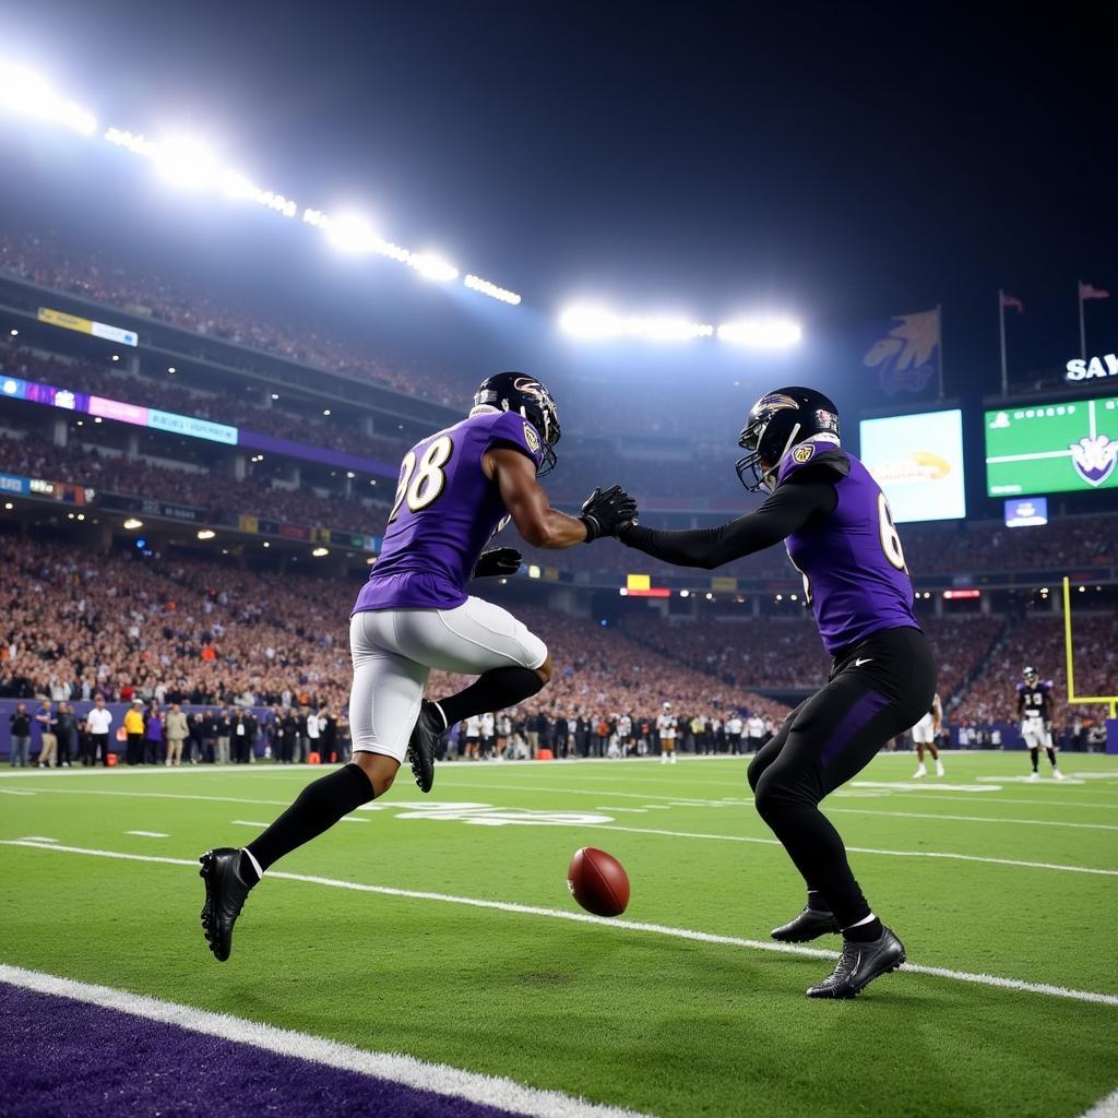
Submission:
M 0 110 L 47 125 L 61 126 L 80 135 L 97 132 L 97 119 L 74 101 L 59 94 L 47 78 L 26 66 L 0 61 Z M 413 252 L 382 237 L 367 218 L 358 214 L 330 215 L 302 207 L 292 198 L 267 190 L 240 170 L 222 165 L 203 141 L 187 135 L 151 139 L 126 129 L 107 127 L 102 140 L 150 161 L 160 179 L 177 189 L 209 191 L 231 201 L 248 201 L 325 234 L 335 248 L 352 254 L 387 256 L 407 265 L 432 283 L 453 283 L 459 271 L 438 253 Z M 467 275 L 470 291 L 515 306 L 520 295 L 476 275 Z

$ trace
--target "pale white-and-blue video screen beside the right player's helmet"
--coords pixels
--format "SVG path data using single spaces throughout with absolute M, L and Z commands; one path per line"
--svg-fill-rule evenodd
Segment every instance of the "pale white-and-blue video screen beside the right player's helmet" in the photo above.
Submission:
M 862 462 L 884 490 L 896 523 L 966 517 L 958 408 L 863 419 L 859 430 Z

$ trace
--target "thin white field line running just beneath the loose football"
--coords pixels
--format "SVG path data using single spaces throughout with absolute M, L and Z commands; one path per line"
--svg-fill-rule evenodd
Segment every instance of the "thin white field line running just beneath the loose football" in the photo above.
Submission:
M 626 830 L 626 828 L 616 828 Z M 89 854 L 95 858 L 112 858 L 127 862 L 158 862 L 163 865 L 186 865 L 197 870 L 197 860 L 184 858 L 165 858 L 155 854 L 124 854 L 111 850 L 87 850 L 83 846 L 46 846 L 23 840 L 0 839 L 0 846 L 26 846 L 29 850 L 48 850 L 63 854 Z M 1118 872 L 1118 871 L 1115 871 Z M 493 909 L 499 912 L 515 912 L 522 916 L 542 916 L 552 920 L 569 920 L 572 923 L 594 923 L 603 928 L 620 928 L 625 931 L 648 932 L 656 936 L 667 936 L 672 939 L 690 939 L 700 944 L 720 944 L 728 947 L 746 947 L 755 951 L 769 951 L 776 955 L 798 955 L 811 959 L 837 959 L 836 951 L 824 951 L 814 947 L 800 947 L 797 944 L 779 944 L 775 940 L 742 939 L 738 936 L 721 936 L 710 931 L 693 931 L 690 928 L 671 928 L 662 923 L 643 923 L 637 920 L 618 920 L 607 917 L 590 916 L 588 912 L 574 912 L 565 909 L 540 908 L 534 904 L 517 904 L 511 901 L 490 901 L 476 897 L 456 897 L 452 893 L 432 893 L 417 889 L 394 889 L 390 885 L 367 885 L 359 881 L 339 881 L 337 878 L 320 878 L 306 873 L 285 873 L 282 870 L 268 870 L 269 879 L 283 881 L 302 881 L 312 885 L 325 885 L 330 889 L 349 889 L 359 893 L 379 893 L 385 897 L 405 897 L 411 900 L 442 901 L 446 904 L 464 904 L 468 908 Z M 998 989 L 1013 989 L 1026 994 L 1043 994 L 1049 997 L 1064 997 L 1074 1002 L 1091 1002 L 1098 1005 L 1118 1006 L 1118 994 L 1099 994 L 1089 989 L 1072 989 L 1067 986 L 1052 986 L 1048 983 L 1023 982 L 1020 978 L 1001 978 L 997 975 L 972 974 L 967 970 L 950 970 L 947 967 L 920 966 L 906 963 L 902 973 L 930 975 L 936 978 L 950 978 L 955 982 L 974 983 L 979 986 L 996 986 Z

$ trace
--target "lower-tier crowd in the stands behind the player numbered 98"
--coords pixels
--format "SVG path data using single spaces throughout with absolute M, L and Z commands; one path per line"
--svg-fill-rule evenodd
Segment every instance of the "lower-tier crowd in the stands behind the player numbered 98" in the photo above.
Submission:
M 351 584 L 262 577 L 201 560 L 95 557 L 12 538 L 0 543 L 0 695 L 68 703 L 102 694 L 159 708 L 345 708 Z M 551 684 L 519 709 L 519 719 L 596 727 L 625 713 L 639 726 L 654 722 L 664 702 L 689 721 L 724 721 L 746 710 L 776 719 L 786 710 L 593 620 L 517 613 L 543 636 L 556 663 Z M 463 683 L 435 672 L 429 690 L 447 693 Z M 576 724 L 561 748 L 578 748 L 581 732 Z

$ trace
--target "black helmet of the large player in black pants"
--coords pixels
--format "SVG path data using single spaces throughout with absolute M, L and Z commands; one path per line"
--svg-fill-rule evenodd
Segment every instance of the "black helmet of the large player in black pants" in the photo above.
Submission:
M 766 392 L 750 409 L 738 446 L 741 484 L 756 493 L 771 491 L 781 459 L 797 443 L 813 435 L 831 435 L 839 442 L 839 409 L 814 388 L 778 388 Z

